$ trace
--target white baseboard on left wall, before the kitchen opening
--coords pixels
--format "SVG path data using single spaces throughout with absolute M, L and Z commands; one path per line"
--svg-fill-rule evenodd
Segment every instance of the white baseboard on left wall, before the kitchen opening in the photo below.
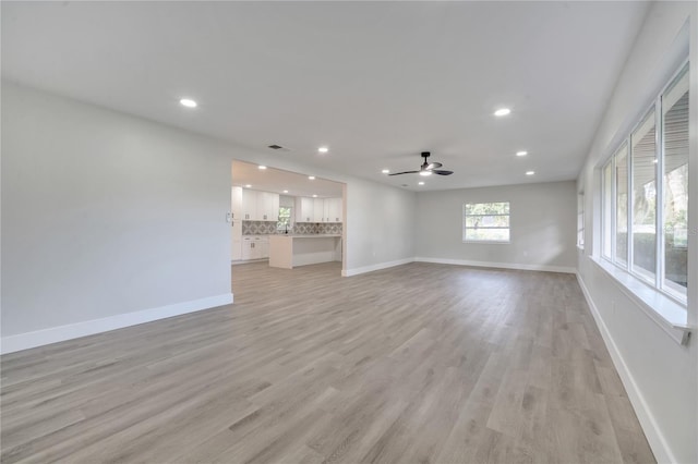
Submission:
M 31 347 L 48 345 L 50 343 L 77 339 L 80 337 L 93 335 L 95 333 L 108 332 L 139 323 L 151 322 L 153 320 L 166 319 L 186 313 L 209 309 L 216 306 L 231 304 L 232 293 L 208 296 L 191 302 L 176 303 L 173 305 L 160 306 L 156 308 L 143 309 L 133 313 L 120 314 L 101 319 L 85 320 L 83 322 L 69 323 L 67 326 L 51 327 L 49 329 L 36 330 L 33 332 L 19 333 L 16 335 L 3 337 L 0 353 L 13 353 Z

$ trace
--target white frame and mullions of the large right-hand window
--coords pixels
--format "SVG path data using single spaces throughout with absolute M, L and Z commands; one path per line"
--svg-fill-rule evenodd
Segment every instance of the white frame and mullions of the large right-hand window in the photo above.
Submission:
M 613 265 L 614 268 L 621 270 L 629 274 L 633 279 L 642 284 L 651 288 L 652 290 L 661 293 L 662 295 L 671 298 L 673 302 L 678 305 L 687 308 L 687 291 L 681 292 L 666 284 L 665 279 L 665 224 L 664 224 L 664 114 L 662 107 L 662 97 L 674 86 L 685 73 L 690 73 L 689 60 L 686 59 L 682 62 L 682 64 L 676 69 L 674 73 L 672 73 L 671 77 L 667 80 L 666 84 L 662 86 L 658 95 L 652 99 L 652 102 L 648 105 L 645 111 L 640 114 L 641 117 L 638 119 L 638 122 L 634 124 L 628 133 L 623 137 L 623 139 L 615 146 L 613 150 L 611 150 L 612 155 L 609 159 L 601 164 L 601 246 L 599 257 L 603 261 L 607 261 Z M 633 134 L 646 122 L 648 115 L 654 112 L 654 152 L 657 156 L 657 168 L 655 168 L 655 219 L 654 219 L 654 232 L 655 232 L 655 266 L 654 266 L 654 276 L 651 279 L 648 279 L 648 276 L 642 274 L 634 269 L 634 237 L 631 233 L 631 228 L 634 224 L 634 173 L 633 173 L 633 159 L 634 159 L 634 147 L 633 147 Z M 623 150 L 624 146 L 626 147 L 626 162 L 628 166 L 627 171 L 627 221 L 628 221 L 628 236 L 627 241 L 627 255 L 625 259 L 625 264 L 617 262 L 616 256 L 616 236 L 617 236 L 617 185 L 616 185 L 616 156 Z M 606 205 L 606 185 L 605 185 L 605 173 L 606 168 L 611 166 L 611 205 Z M 690 188 L 690 186 L 689 186 Z M 606 219 L 606 208 L 611 209 L 611 224 L 607 224 Z M 611 240 L 611 256 L 606 256 L 604 249 L 606 247 L 605 241 L 606 237 L 606 227 L 611 227 L 611 233 L 609 237 Z M 688 253 L 688 251 L 687 251 Z M 675 286 L 679 286 L 675 284 Z

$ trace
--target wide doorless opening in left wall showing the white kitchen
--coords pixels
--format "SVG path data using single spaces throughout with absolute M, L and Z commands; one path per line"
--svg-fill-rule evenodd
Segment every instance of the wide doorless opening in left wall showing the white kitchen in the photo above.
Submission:
M 338 261 L 340 273 L 345 190 L 342 183 L 312 174 L 233 160 L 232 272 L 252 264 L 292 271 L 299 266 Z

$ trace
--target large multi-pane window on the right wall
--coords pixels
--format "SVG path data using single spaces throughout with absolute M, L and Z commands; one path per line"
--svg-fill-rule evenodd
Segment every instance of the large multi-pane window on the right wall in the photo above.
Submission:
M 601 171 L 601 255 L 685 303 L 688 64 Z

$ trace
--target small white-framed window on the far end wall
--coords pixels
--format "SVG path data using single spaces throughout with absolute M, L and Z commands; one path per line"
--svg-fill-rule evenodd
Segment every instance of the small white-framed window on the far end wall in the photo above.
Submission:
M 509 242 L 509 202 L 467 203 L 464 242 Z

